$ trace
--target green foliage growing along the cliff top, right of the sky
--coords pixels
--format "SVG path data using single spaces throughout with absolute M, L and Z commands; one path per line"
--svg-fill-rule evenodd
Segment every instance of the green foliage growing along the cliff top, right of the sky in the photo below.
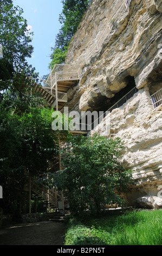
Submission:
M 83 14 L 88 8 L 89 0 L 62 0 L 63 10 L 59 21 L 62 27 L 56 36 L 55 47 L 51 48 L 53 53 L 50 55 L 51 63 L 49 67 L 55 64 L 63 64 L 66 59 L 69 42 L 74 36 Z

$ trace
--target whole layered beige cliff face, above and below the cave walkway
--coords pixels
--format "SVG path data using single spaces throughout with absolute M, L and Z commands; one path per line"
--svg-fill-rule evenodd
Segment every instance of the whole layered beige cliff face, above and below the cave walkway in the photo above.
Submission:
M 68 92 L 67 106 L 69 110 L 106 111 L 133 87 L 138 89 L 95 131 L 125 141 L 122 163 L 134 170 L 137 183 L 127 194 L 128 203 L 158 208 L 162 205 L 158 196 L 162 107 L 154 108 L 150 95 L 162 88 L 162 1 L 132 0 L 127 9 L 117 12 L 121 2 L 94 0 L 70 43 L 66 63 L 82 63 L 83 70 L 77 86 Z

